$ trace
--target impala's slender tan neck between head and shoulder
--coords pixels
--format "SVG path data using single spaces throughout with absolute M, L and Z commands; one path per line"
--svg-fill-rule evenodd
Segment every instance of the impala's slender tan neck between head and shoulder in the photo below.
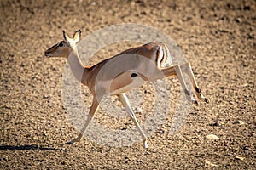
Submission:
M 71 67 L 74 77 L 76 77 L 79 82 L 87 85 L 89 68 L 82 64 L 77 48 L 73 48 L 72 52 L 67 57 L 67 62 Z

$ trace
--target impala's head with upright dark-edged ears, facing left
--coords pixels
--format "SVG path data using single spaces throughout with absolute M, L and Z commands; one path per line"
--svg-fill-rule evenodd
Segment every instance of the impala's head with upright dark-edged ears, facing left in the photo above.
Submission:
M 63 57 L 67 58 L 68 55 L 73 51 L 76 50 L 76 43 L 79 42 L 81 31 L 75 31 L 73 34 L 73 38 L 70 38 L 67 36 L 65 31 L 63 32 L 63 38 L 64 40 L 61 42 L 58 42 L 53 47 L 47 49 L 44 52 L 45 57 Z

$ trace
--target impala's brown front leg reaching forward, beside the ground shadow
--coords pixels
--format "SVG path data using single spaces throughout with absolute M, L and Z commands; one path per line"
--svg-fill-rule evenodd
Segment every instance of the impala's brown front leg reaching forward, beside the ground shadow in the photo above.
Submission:
M 79 136 L 76 139 L 73 139 L 73 140 L 67 142 L 66 144 L 73 144 L 75 142 L 79 142 L 82 139 L 86 128 L 89 126 L 90 122 L 93 120 L 93 117 L 95 115 L 95 112 L 96 112 L 98 106 L 99 106 L 99 102 L 97 101 L 96 96 L 94 96 L 92 104 L 90 106 L 89 115 L 88 115 L 87 120 L 84 124 L 84 127 L 82 128 L 82 130 L 79 133 Z

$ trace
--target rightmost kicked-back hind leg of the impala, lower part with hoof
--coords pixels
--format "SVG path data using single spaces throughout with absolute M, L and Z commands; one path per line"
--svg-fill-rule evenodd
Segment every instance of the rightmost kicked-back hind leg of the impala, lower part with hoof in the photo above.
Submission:
M 198 85 L 195 81 L 195 76 L 194 76 L 194 73 L 192 71 L 190 63 L 186 63 L 184 65 L 181 65 L 181 68 L 182 68 L 182 71 L 185 72 L 189 76 L 190 81 L 193 84 L 193 88 L 195 90 L 195 94 L 196 94 L 197 98 L 201 99 L 202 101 L 205 101 L 206 103 L 209 103 L 209 100 L 203 94 L 201 94 L 201 89 L 198 88 Z

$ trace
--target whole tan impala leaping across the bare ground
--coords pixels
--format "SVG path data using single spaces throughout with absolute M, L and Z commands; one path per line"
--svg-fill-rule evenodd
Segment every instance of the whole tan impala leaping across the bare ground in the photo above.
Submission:
M 44 54 L 46 57 L 66 58 L 73 71 L 73 75 L 79 82 L 88 86 L 91 94 L 93 94 L 93 102 L 89 112 L 90 116 L 88 116 L 79 136 L 67 144 L 73 144 L 74 142 L 80 141 L 86 127 L 88 127 L 90 121 L 93 119 L 102 97 L 105 94 L 110 94 L 118 96 L 119 100 L 124 105 L 125 110 L 130 114 L 132 121 L 136 124 L 143 138 L 143 146 L 148 148 L 147 138 L 137 122 L 136 116 L 131 110 L 129 100 L 125 95 L 125 92 L 131 90 L 131 88 L 142 86 L 143 82 L 146 81 L 177 76 L 183 91 L 186 94 L 186 98 L 198 105 L 197 101 L 193 99 L 192 95 L 189 93 L 184 82 L 183 72 L 185 72 L 193 84 L 197 98 L 207 103 L 209 102 L 201 94 L 201 90 L 195 82 L 195 77 L 190 64 L 173 65 L 171 54 L 168 48 L 166 48 L 166 45 L 150 42 L 137 48 L 127 49 L 122 53 L 113 56 L 113 58 L 105 59 L 96 65 L 87 67 L 80 62 L 78 49 L 76 47 L 76 43 L 80 40 L 80 35 L 81 31 L 75 31 L 73 38 L 70 38 L 65 34 L 65 31 L 63 31 L 64 40 L 46 50 Z M 117 65 L 119 65 L 119 67 L 121 65 L 122 67 L 119 71 L 115 70 Z

